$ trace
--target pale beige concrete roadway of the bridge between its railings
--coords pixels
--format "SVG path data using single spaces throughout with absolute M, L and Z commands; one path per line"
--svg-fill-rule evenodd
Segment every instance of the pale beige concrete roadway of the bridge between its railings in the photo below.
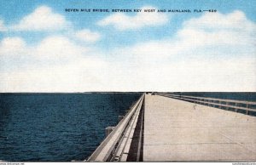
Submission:
M 256 117 L 145 96 L 143 161 L 256 160 Z

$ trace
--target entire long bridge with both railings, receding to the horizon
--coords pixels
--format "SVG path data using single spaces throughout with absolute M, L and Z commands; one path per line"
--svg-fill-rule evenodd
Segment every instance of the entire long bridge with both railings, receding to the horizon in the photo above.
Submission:
M 256 102 L 143 94 L 88 162 L 255 162 Z M 240 113 L 239 111 L 244 111 Z

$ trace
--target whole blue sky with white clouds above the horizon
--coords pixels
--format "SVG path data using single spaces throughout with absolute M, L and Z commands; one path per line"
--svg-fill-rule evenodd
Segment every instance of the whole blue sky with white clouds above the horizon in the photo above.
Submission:
M 0 92 L 256 92 L 256 4 L 170 2 L 3 0 Z

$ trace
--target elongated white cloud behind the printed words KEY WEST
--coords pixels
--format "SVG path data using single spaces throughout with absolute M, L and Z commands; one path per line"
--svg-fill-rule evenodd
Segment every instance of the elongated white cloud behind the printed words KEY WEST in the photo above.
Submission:
M 142 12 L 136 15 L 127 15 L 122 13 L 112 14 L 98 22 L 99 26 L 113 26 L 119 31 L 140 29 L 145 26 L 162 26 L 167 23 L 166 14 L 155 12 L 143 12 L 144 9 L 155 9 L 154 7 L 145 6 Z M 157 10 L 157 9 L 156 9 Z

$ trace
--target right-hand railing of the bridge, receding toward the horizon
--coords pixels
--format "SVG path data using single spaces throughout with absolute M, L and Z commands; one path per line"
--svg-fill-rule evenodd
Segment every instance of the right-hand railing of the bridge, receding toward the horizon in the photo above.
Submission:
M 224 99 L 216 99 L 216 98 L 208 98 L 208 97 L 195 97 L 188 95 L 179 95 L 179 94 L 162 94 L 159 95 L 171 97 L 177 100 L 186 100 L 193 103 L 201 104 L 201 105 L 209 105 L 217 108 L 225 108 L 229 110 L 233 108 L 235 111 L 243 110 L 246 111 L 256 111 L 256 102 L 253 101 L 242 101 L 242 100 L 224 100 Z

